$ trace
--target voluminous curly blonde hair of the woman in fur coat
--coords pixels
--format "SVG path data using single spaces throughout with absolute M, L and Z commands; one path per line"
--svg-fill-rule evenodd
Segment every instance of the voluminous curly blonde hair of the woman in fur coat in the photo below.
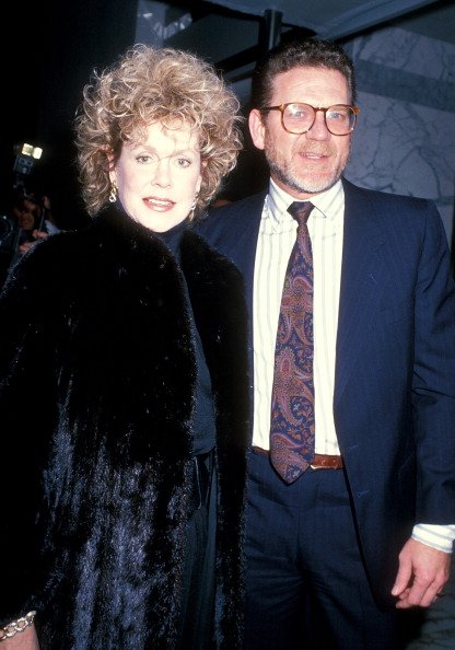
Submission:
M 147 127 L 182 120 L 199 138 L 202 184 L 197 207 L 214 197 L 242 148 L 234 93 L 215 70 L 195 55 L 138 44 L 83 89 L 74 121 L 79 176 L 89 214 L 105 206 L 109 167 L 124 142 L 145 139 Z

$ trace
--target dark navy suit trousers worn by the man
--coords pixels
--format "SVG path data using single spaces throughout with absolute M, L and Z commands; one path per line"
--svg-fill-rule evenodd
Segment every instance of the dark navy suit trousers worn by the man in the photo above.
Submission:
M 398 650 L 399 613 L 374 603 L 343 469 L 287 485 L 252 451 L 245 650 Z

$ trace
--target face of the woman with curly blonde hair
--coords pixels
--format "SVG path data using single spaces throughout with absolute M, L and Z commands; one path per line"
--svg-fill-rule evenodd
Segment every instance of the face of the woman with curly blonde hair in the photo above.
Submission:
M 118 197 L 135 221 L 165 232 L 191 211 L 201 184 L 198 140 L 188 125 L 176 128 L 153 123 L 147 140 L 126 142 L 110 171 Z

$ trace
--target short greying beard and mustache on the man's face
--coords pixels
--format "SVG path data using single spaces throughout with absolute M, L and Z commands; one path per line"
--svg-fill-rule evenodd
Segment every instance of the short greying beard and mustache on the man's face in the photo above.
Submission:
M 320 147 L 320 144 L 318 144 L 317 147 L 306 146 L 303 149 L 303 151 L 307 153 L 319 153 L 323 155 L 330 155 L 334 153 L 334 150 L 329 146 Z M 266 138 L 265 148 L 266 159 L 269 164 L 270 174 L 273 177 L 273 179 L 279 181 L 282 185 L 284 185 L 291 190 L 293 189 L 298 191 L 299 194 L 319 194 L 320 191 L 325 191 L 326 189 L 332 187 L 341 177 L 341 174 L 343 173 L 346 165 L 349 162 L 350 151 L 351 149 L 349 148 L 346 160 L 340 159 L 338 161 L 338 165 L 334 169 L 332 174 L 330 176 L 324 175 L 323 177 L 318 177 L 318 175 L 315 174 L 314 178 L 303 178 L 303 175 L 308 176 L 308 174 L 302 174 L 301 172 L 299 172 L 294 167 L 293 161 L 282 162 L 278 159 L 277 150 L 275 148 L 275 144 L 271 142 L 271 139 L 269 140 Z

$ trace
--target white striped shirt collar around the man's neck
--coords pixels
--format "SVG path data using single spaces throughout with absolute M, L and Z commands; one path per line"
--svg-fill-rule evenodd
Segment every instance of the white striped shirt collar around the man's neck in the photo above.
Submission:
M 288 212 L 288 208 L 293 201 L 295 201 L 295 198 L 278 187 L 275 181 L 270 178 L 266 204 L 270 219 L 276 225 L 288 220 L 290 222 L 294 221 Z M 313 196 L 311 201 L 317 208 L 317 212 L 314 211 L 315 213 L 327 219 L 335 219 L 345 206 L 345 189 L 341 181 L 337 181 L 329 189 Z

